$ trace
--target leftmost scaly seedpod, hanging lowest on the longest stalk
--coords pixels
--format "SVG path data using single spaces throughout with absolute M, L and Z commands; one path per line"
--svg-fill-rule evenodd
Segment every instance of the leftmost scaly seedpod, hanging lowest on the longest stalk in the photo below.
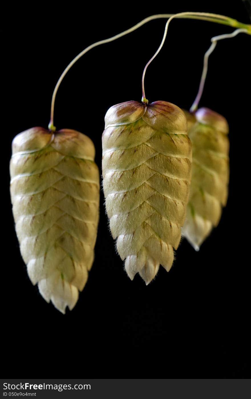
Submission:
M 41 127 L 12 142 L 10 192 L 20 250 L 40 294 L 65 313 L 83 290 L 94 259 L 99 170 L 91 139 Z

